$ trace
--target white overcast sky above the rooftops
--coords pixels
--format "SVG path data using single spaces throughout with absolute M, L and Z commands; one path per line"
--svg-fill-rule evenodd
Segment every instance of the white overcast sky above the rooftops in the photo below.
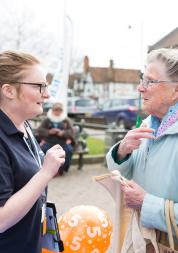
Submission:
M 14 1 L 32 8 L 37 20 L 61 38 L 63 0 Z M 177 9 L 177 0 L 65 1 L 74 53 L 88 55 L 92 66 L 108 66 L 112 58 L 119 68 L 143 65 L 146 47 L 178 26 Z

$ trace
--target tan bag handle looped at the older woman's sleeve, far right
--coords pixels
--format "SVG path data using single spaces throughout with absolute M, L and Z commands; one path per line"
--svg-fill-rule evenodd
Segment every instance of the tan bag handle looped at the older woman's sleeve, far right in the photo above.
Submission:
M 174 228 L 177 239 L 178 239 L 178 227 L 174 215 L 174 202 L 172 200 L 166 199 L 165 201 L 165 216 L 166 216 L 169 245 L 171 250 L 174 250 L 174 238 L 172 235 L 172 226 Z

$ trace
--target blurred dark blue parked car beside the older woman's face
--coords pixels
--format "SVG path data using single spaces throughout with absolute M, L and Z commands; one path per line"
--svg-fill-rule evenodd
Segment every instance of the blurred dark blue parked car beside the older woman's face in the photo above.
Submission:
M 103 118 L 106 124 L 115 122 L 119 127 L 130 129 L 136 122 L 138 98 L 118 97 L 107 99 L 99 108 L 97 112 L 92 114 L 93 117 Z

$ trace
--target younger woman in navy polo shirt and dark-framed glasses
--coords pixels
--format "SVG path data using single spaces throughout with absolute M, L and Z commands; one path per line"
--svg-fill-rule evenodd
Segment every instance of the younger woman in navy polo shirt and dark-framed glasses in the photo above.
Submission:
M 65 161 L 52 147 L 44 156 L 28 119 L 49 97 L 39 60 L 0 53 L 0 252 L 41 253 L 45 189 Z

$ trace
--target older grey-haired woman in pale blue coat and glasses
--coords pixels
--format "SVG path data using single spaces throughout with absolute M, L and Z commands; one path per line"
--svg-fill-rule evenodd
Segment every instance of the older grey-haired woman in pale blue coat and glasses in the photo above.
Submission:
M 138 90 L 143 110 L 150 115 L 110 149 L 107 163 L 110 170 L 132 179 L 122 191 L 126 205 L 141 210 L 141 224 L 165 232 L 167 238 L 166 199 L 174 201 L 178 224 L 177 49 L 158 49 L 148 55 Z

